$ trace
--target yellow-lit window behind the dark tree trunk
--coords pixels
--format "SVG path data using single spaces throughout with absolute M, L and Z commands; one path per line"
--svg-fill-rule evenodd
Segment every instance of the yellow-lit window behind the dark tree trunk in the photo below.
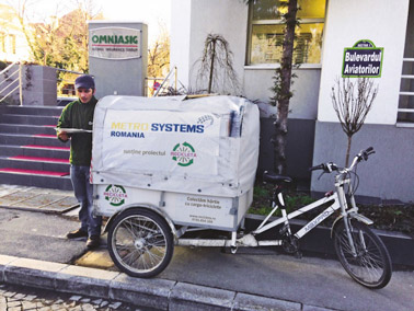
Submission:
M 250 5 L 248 64 L 277 64 L 283 54 L 284 27 L 280 5 L 287 0 L 257 0 Z M 298 0 L 300 26 L 296 28 L 294 62 L 320 64 L 325 0 Z

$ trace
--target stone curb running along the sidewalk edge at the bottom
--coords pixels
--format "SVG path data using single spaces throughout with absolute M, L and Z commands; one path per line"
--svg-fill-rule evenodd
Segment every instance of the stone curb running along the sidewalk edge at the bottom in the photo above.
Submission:
M 134 278 L 117 272 L 7 255 L 0 255 L 0 283 L 110 298 L 170 311 L 331 310 L 187 283 Z

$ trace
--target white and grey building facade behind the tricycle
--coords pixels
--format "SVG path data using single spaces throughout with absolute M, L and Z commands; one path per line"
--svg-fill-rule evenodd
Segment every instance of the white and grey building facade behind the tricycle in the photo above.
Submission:
M 192 89 L 195 66 L 208 34 L 220 34 L 233 53 L 242 95 L 269 102 L 281 55 L 284 5 L 279 0 L 173 0 L 171 65 Z M 414 1 L 300 0 L 300 26 L 294 59 L 300 67 L 292 85 L 288 134 L 288 173 L 311 180 L 315 193 L 332 188 L 332 176 L 310 175 L 321 162 L 345 164 L 347 137 L 332 103 L 343 77 L 370 77 L 378 94 L 350 153 L 372 146 L 377 153 L 358 169 L 357 194 L 414 200 Z M 346 54 L 346 51 L 348 51 Z M 358 62 L 359 61 L 359 62 Z M 274 107 L 262 107 L 261 163 L 273 161 Z M 264 108 L 263 108 L 264 107 Z M 267 168 L 268 169 L 268 168 Z

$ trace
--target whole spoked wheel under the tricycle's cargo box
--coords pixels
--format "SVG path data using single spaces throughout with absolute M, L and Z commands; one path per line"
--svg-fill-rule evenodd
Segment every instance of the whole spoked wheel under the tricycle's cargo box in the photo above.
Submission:
M 110 227 L 107 245 L 122 272 L 145 278 L 158 275 L 169 265 L 174 247 L 165 220 L 146 209 L 118 215 Z

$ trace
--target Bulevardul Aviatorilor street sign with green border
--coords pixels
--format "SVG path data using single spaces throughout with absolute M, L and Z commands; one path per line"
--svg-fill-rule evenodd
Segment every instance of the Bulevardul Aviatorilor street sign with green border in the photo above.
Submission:
M 345 47 L 342 66 L 343 78 L 380 78 L 383 47 L 376 47 L 371 41 L 358 41 L 353 47 Z

